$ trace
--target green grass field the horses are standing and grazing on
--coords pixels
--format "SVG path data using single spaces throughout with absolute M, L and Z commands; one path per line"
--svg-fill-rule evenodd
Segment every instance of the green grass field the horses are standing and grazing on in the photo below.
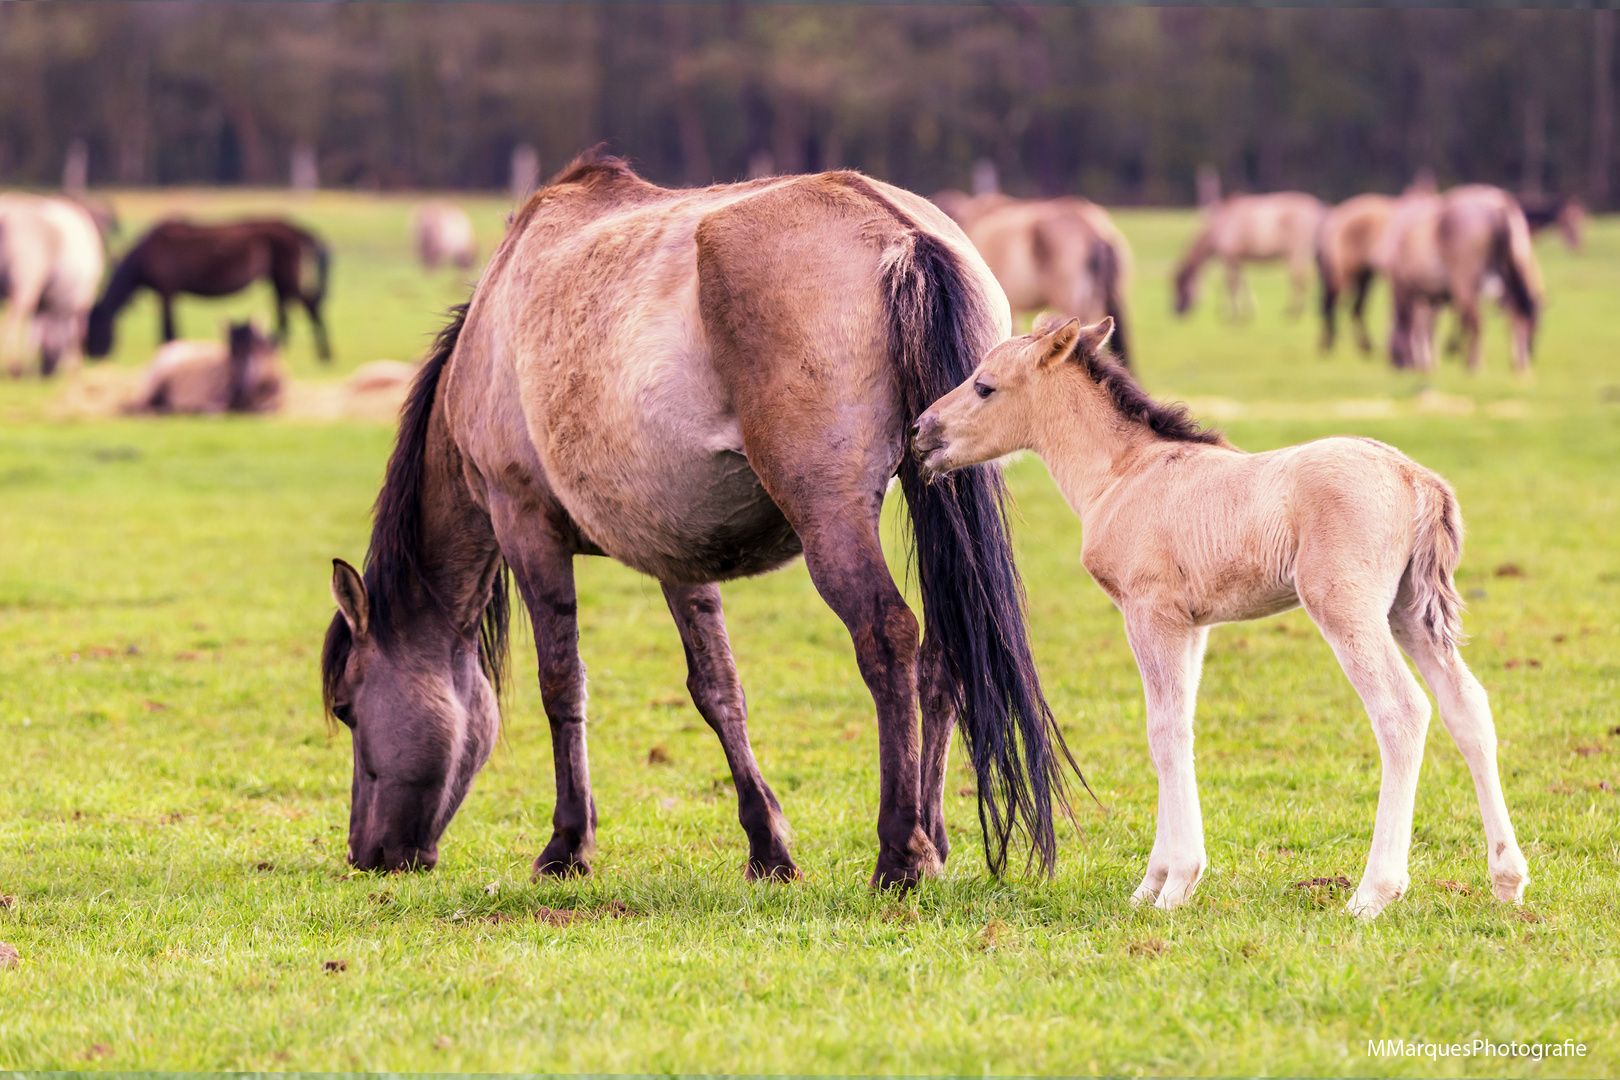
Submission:
M 418 355 L 454 274 L 423 275 L 408 199 L 117 198 L 154 215 L 288 209 L 334 244 L 322 372 Z M 504 204 L 478 204 L 483 248 Z M 1473 785 L 1435 717 L 1413 887 L 1380 920 L 1293 882 L 1362 868 L 1377 748 L 1309 620 L 1217 630 L 1199 709 L 1210 871 L 1165 915 L 1128 897 L 1155 782 L 1136 667 L 1040 461 L 1011 468 L 1047 693 L 1106 810 L 1076 801 L 1055 881 L 990 879 L 954 763 L 949 870 L 872 895 L 876 732 L 842 625 L 802 565 L 726 586 L 766 779 L 807 881 L 750 886 L 724 758 L 684 693 L 658 585 L 580 560 L 601 811 L 596 874 L 530 882 L 549 740 L 526 628 L 501 746 L 429 874 L 347 874 L 347 733 L 321 717 L 329 560 L 358 560 L 392 432 L 277 419 L 53 423 L 60 385 L 0 385 L 0 1069 L 951 1074 L 1515 1074 L 1620 1069 L 1620 220 L 1539 244 L 1533 382 L 1432 381 L 1315 353 L 1315 322 L 1187 322 L 1168 275 L 1191 214 L 1131 212 L 1147 385 L 1260 450 L 1383 439 L 1456 486 L 1468 661 L 1492 695 L 1531 863 L 1489 897 Z M 1374 308 L 1382 337 L 1385 309 Z M 181 303 L 185 332 L 267 290 Z M 143 303 L 117 363 L 156 337 Z M 1430 393 L 1421 393 L 1430 389 Z M 893 510 L 893 507 L 891 507 Z M 896 565 L 899 538 L 891 529 Z M 1516 568 L 1516 570 L 1513 570 Z M 661 746 L 669 758 L 650 764 Z M 546 910 L 567 916 L 544 918 Z M 536 918 L 539 913 L 543 918 Z M 505 915 L 510 918 L 494 918 Z M 342 970 L 329 970 L 339 967 Z M 1555 1041 L 1542 1064 L 1367 1056 L 1367 1040 Z

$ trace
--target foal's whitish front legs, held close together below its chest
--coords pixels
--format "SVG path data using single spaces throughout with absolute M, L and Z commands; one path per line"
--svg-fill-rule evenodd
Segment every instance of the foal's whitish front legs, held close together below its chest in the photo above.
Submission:
M 1131 899 L 1145 904 L 1157 895 L 1157 907 L 1166 912 L 1192 895 L 1209 865 L 1199 784 L 1192 771 L 1192 709 L 1209 633 L 1207 627 L 1189 627 L 1173 619 L 1126 615 L 1126 636 L 1147 696 L 1147 746 L 1158 772 L 1153 853 L 1147 858 L 1147 876 Z

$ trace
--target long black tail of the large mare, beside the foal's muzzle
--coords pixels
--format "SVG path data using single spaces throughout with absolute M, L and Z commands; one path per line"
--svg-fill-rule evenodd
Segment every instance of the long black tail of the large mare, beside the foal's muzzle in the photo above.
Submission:
M 995 342 L 978 290 L 956 254 L 889 209 L 906 230 L 885 256 L 883 287 L 889 356 L 909 427 Z M 1035 674 L 1001 473 L 980 465 L 927 483 L 907 445 L 899 474 L 925 631 L 951 667 L 957 725 L 978 779 L 985 861 L 1000 873 L 1013 832 L 1022 831 L 1032 857 L 1050 873 L 1058 855 L 1053 801 L 1069 811 L 1064 764 L 1074 767 L 1074 758 Z

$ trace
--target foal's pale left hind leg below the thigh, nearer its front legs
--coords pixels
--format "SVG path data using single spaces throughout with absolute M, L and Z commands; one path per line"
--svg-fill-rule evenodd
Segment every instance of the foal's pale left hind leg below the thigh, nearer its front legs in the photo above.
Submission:
M 1351 915 L 1372 918 L 1400 899 L 1411 881 L 1413 803 L 1418 800 L 1422 742 L 1429 732 L 1429 698 L 1406 669 L 1382 617 L 1340 620 L 1333 612 L 1312 610 L 1311 604 L 1306 612 L 1322 628 L 1340 667 L 1361 695 L 1383 759 L 1367 870 L 1346 905 Z

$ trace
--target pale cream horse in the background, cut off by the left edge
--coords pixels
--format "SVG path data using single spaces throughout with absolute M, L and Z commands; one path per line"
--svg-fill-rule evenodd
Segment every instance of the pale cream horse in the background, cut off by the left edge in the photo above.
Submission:
M 39 348 L 39 372 L 75 366 L 84 322 L 107 261 L 91 214 L 73 199 L 0 194 L 0 363 L 23 374 L 24 356 Z

